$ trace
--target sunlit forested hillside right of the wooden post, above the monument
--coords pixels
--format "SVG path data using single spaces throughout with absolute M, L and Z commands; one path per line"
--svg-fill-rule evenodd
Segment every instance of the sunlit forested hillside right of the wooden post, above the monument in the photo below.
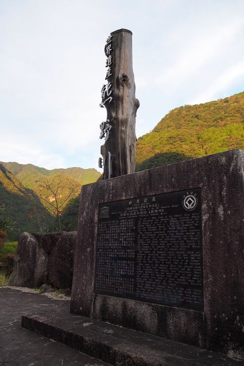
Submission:
M 244 92 L 170 111 L 138 138 L 136 170 L 232 148 L 244 149 Z

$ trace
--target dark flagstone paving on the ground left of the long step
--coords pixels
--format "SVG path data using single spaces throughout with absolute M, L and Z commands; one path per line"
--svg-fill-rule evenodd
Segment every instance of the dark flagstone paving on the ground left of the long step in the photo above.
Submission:
M 21 328 L 22 314 L 48 310 L 68 318 L 68 308 L 68 301 L 0 288 L 0 366 L 109 366 Z

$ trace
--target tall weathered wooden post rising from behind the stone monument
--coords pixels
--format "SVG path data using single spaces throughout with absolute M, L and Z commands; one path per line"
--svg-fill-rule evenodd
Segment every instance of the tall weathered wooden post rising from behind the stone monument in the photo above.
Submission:
M 113 101 L 106 104 L 107 119 L 112 121 L 109 139 L 101 146 L 103 156 L 111 152 L 111 177 L 135 171 L 135 118 L 140 105 L 135 98 L 132 68 L 132 33 L 126 29 L 112 32 Z M 106 50 L 106 48 L 105 48 Z M 107 159 L 108 162 L 108 159 Z M 104 179 L 109 177 L 108 163 L 104 166 Z

